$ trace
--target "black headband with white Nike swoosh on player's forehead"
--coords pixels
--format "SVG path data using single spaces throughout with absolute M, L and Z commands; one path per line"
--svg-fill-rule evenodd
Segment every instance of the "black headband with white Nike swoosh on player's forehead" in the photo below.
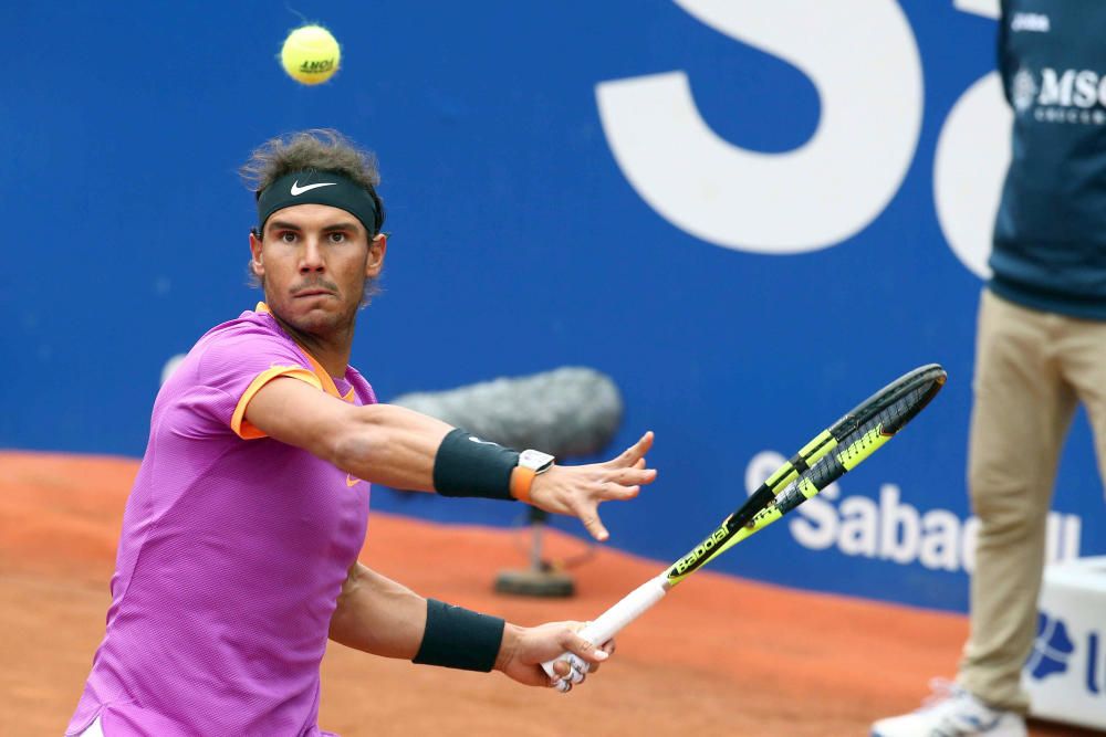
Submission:
M 334 171 L 294 171 L 258 192 L 258 231 L 264 232 L 269 217 L 296 204 L 328 204 L 361 221 L 374 238 L 380 232 L 380 209 L 373 193 Z

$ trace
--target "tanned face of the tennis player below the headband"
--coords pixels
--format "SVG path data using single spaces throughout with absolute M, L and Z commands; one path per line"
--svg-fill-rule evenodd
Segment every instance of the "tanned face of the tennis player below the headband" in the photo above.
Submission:
M 298 204 L 274 212 L 250 249 L 270 309 L 299 330 L 326 335 L 352 327 L 386 244 L 380 235 L 369 241 L 345 210 Z

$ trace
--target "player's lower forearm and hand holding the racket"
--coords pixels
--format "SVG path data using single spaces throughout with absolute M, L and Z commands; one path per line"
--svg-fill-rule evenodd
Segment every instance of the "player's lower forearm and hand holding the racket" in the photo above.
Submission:
M 426 662 L 434 662 L 435 656 L 426 653 L 424 647 L 428 611 L 427 599 L 363 564 L 355 562 L 349 568 L 338 596 L 337 608 L 331 618 L 330 638 L 347 647 L 375 655 L 404 660 L 427 655 L 429 660 Z M 491 619 L 474 612 L 466 612 L 466 615 L 469 620 L 472 617 Z M 436 636 L 448 640 L 451 632 L 449 628 L 463 627 L 465 621 L 462 619 L 461 624 L 438 622 Z M 502 635 L 491 643 L 493 651 L 488 653 L 488 665 L 520 683 L 547 686 L 550 680 L 541 663 L 563 652 L 572 652 L 591 663 L 591 671 L 594 672 L 598 663 L 606 660 L 614 650 L 614 643 L 597 647 L 576 634 L 578 627 L 575 622 L 551 622 L 525 628 L 504 622 Z M 462 640 L 468 633 L 458 629 L 456 635 Z M 437 657 L 442 655 L 438 654 Z M 445 657 L 448 660 L 448 653 Z M 446 662 L 436 664 L 450 665 Z M 554 670 L 561 675 L 570 673 L 568 664 L 564 661 L 560 661 Z

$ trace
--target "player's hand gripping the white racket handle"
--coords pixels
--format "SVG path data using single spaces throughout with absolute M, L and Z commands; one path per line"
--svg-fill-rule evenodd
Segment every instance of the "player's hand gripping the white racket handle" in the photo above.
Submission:
M 581 638 L 576 631 L 582 627 L 582 622 L 550 622 L 531 628 L 508 623 L 495 670 L 528 686 L 556 686 L 560 681 L 551 681 L 542 663 L 571 653 L 586 663 L 586 671 L 573 668 L 567 660 L 553 664 L 557 678 L 565 681 L 566 687 L 562 689 L 568 691 L 573 684 L 584 681 L 585 673 L 595 673 L 599 663 L 615 651 L 614 640 L 597 646 Z

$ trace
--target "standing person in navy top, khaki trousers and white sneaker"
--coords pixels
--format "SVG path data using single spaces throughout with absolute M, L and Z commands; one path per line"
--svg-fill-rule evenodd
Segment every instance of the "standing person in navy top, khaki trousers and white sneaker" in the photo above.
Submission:
M 1004 0 L 1013 157 L 977 338 L 969 486 L 980 518 L 956 684 L 878 737 L 1022 737 L 1045 520 L 1082 402 L 1106 468 L 1106 3 Z

